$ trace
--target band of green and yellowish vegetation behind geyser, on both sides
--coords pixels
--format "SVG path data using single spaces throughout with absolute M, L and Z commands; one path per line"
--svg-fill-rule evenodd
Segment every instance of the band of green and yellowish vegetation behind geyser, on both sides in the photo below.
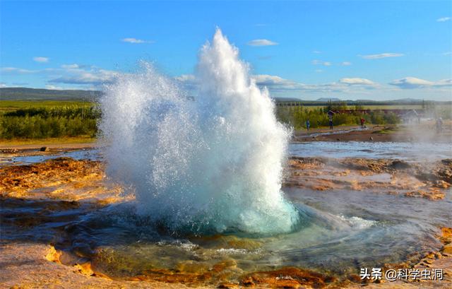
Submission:
M 345 105 L 326 103 L 325 105 L 277 106 L 276 115 L 280 122 L 295 129 L 305 129 L 309 119 L 311 128 L 328 126 L 328 110 L 355 110 L 352 114 L 336 114 L 334 126 L 359 125 L 364 118 L 366 124 L 398 124 L 399 117 L 380 110 L 422 110 L 428 117 L 451 119 L 451 103 L 441 103 L 425 107 L 419 104 L 379 104 Z M 362 114 L 359 110 L 371 110 Z M 92 141 L 97 136 L 97 122 L 101 112 L 95 102 L 85 100 L 0 100 L 0 141 L 2 143 L 20 140 L 58 138 L 66 142 L 68 138 Z

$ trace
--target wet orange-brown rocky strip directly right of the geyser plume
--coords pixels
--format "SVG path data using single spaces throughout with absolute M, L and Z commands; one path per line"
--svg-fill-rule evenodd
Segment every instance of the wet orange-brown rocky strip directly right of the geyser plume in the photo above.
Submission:
M 287 187 L 317 191 L 366 190 L 440 200 L 452 184 L 451 159 L 420 164 L 387 159 L 292 157 L 289 167 Z

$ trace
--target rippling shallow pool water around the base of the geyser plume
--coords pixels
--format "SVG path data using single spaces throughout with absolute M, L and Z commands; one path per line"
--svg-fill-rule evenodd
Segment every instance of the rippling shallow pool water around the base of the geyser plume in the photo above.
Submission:
M 418 252 L 439 249 L 434 235 L 452 218 L 450 194 L 447 201 L 433 202 L 362 191 L 285 191 L 304 220 L 290 234 L 175 237 L 127 206 L 112 206 L 81 218 L 70 239 L 72 244 L 90 240 L 93 247 L 103 248 L 106 256 L 100 259 L 118 259 L 117 264 L 102 266 L 119 276 L 151 265 L 174 269 L 188 260 L 212 266 L 226 258 L 236 260 L 244 271 L 301 266 L 356 273 L 363 266 L 405 261 Z M 130 271 L 119 270 L 123 262 L 133 264 Z

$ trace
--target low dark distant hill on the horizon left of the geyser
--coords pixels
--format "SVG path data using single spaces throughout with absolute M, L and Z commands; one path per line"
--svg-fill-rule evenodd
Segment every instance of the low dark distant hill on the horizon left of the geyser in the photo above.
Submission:
M 95 101 L 97 90 L 50 90 L 40 88 L 0 88 L 0 100 L 79 100 Z

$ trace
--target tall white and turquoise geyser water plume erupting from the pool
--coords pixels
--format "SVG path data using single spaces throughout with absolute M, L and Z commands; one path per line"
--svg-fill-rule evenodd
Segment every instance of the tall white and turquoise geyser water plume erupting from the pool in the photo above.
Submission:
M 194 100 L 145 64 L 100 101 L 107 173 L 170 230 L 273 234 L 299 221 L 280 190 L 290 131 L 238 54 L 218 29 L 201 49 Z

